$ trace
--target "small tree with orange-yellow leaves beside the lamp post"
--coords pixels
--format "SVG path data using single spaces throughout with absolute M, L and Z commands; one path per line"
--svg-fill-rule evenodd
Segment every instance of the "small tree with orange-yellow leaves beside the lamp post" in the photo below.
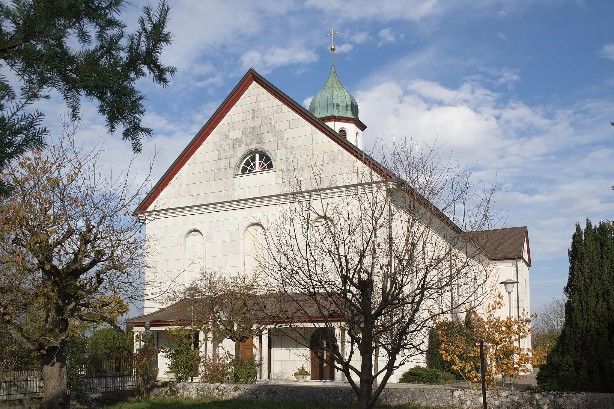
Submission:
M 440 353 L 444 361 L 451 362 L 470 388 L 478 388 L 481 383 L 479 340 L 484 341 L 484 376 L 489 389 L 505 387 L 507 378 L 510 389 L 516 380 L 526 378 L 529 365 L 540 364 L 543 354 L 530 348 L 521 348 L 518 340 L 527 338 L 533 331 L 531 319 L 537 318 L 523 309 L 520 317 L 502 315 L 500 309 L 503 296 L 499 292 L 486 309 L 486 318 L 469 310 L 464 323 L 448 318 L 437 318 L 435 323 L 441 340 Z M 506 318 L 507 317 L 507 318 Z

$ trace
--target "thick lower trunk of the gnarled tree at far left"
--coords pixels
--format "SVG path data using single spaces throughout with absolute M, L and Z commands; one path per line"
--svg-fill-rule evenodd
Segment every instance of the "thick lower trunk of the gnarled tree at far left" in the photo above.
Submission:
M 64 345 L 43 351 L 42 379 L 45 389 L 41 409 L 68 409 L 68 373 Z

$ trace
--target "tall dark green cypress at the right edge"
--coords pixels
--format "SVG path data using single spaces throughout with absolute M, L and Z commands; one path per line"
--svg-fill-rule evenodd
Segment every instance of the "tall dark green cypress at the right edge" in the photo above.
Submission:
M 537 380 L 548 389 L 614 392 L 614 225 L 572 237 L 565 324 Z

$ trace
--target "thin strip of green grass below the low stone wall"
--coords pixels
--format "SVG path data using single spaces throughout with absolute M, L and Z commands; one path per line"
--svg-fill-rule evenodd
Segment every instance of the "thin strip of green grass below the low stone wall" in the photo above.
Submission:
M 254 400 L 216 399 L 150 399 L 142 402 L 119 403 L 112 409 L 354 409 L 356 405 L 323 405 L 320 403 L 275 403 Z M 378 407 L 392 409 L 391 407 Z M 394 409 L 453 409 L 414 405 L 395 406 Z

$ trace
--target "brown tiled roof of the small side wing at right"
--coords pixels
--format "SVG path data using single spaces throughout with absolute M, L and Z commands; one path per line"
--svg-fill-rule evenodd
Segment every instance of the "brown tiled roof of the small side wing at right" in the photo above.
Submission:
M 492 259 L 515 259 L 524 256 L 530 266 L 530 255 L 523 254 L 524 240 L 527 238 L 526 226 L 470 232 L 469 235 L 488 252 Z M 527 239 L 527 250 L 528 248 Z

